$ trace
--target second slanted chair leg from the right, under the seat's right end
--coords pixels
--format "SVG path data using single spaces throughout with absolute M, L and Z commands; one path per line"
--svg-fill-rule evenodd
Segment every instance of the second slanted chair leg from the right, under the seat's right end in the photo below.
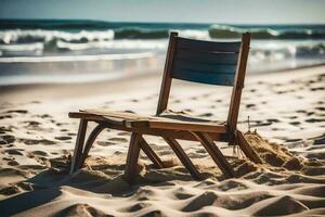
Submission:
M 235 177 L 235 171 L 232 166 L 227 163 L 222 152 L 214 144 L 213 140 L 208 133 L 205 132 L 193 132 L 196 138 L 200 141 L 207 152 L 210 154 L 217 166 L 227 177 Z

